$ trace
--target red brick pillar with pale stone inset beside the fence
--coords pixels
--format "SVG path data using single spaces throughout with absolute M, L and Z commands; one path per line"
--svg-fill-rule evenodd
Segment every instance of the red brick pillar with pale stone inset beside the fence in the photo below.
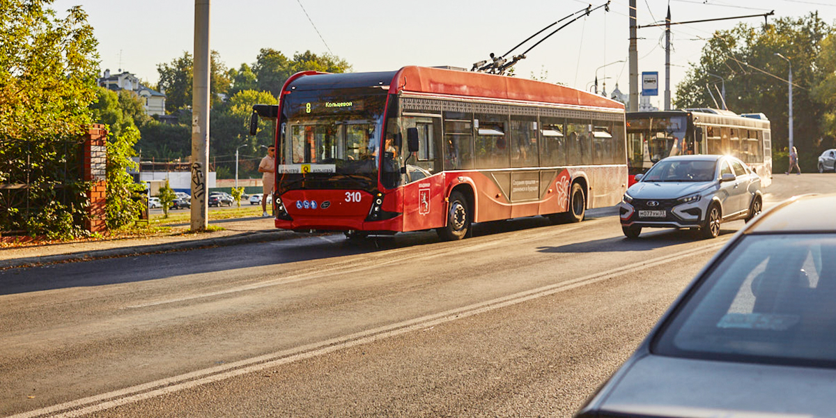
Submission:
M 107 139 L 107 130 L 104 125 L 90 125 L 87 134 L 84 135 L 83 171 L 84 181 L 92 181 L 93 187 L 87 192 L 89 200 L 89 219 L 85 227 L 89 232 L 104 232 L 107 229 L 105 206 L 105 190 L 107 186 L 107 152 L 104 148 L 104 141 Z

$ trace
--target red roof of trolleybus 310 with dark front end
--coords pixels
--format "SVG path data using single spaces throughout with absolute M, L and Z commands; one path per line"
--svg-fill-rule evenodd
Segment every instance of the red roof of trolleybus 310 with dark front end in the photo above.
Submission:
M 392 86 L 397 88 L 392 89 Z M 504 75 L 417 66 L 374 73 L 294 74 L 285 86 L 286 89 L 300 90 L 358 87 L 388 87 L 390 93 L 466 96 L 624 110 L 624 104 L 615 100 L 558 84 Z

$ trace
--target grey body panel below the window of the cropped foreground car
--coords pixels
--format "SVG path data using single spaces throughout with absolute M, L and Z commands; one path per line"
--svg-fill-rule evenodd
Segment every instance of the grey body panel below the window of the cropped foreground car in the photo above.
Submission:
M 604 399 L 611 413 L 703 418 L 836 417 L 836 370 L 650 355 Z

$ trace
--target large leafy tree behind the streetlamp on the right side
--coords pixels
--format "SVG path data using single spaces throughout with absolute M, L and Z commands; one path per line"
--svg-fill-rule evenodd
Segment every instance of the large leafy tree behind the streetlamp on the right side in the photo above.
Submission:
M 818 13 L 810 13 L 803 18 L 780 18 L 762 28 L 739 24 L 731 30 L 716 31 L 702 49 L 700 62 L 692 64 L 677 86 L 674 105 L 721 107 L 714 87 L 719 86 L 721 77 L 725 79 L 728 109 L 738 114 L 767 115 L 772 122 L 772 147 L 782 150 L 788 145 L 788 64 L 776 55 L 782 54 L 793 63 L 794 143 L 799 153 L 818 152 L 819 122 L 825 112 L 811 91 L 823 78 L 818 58 L 832 30 Z M 809 156 L 802 155 L 801 161 L 803 169 L 811 168 L 804 167 Z

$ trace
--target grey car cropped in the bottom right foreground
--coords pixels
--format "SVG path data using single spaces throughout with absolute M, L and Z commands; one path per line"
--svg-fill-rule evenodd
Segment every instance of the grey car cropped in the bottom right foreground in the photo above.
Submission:
M 836 196 L 801 196 L 717 252 L 576 418 L 836 417 Z

